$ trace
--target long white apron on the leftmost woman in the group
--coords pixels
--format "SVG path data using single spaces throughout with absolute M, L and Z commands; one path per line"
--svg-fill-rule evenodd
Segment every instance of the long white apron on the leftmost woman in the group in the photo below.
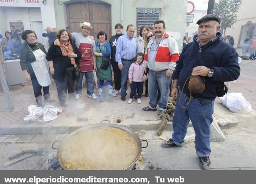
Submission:
M 38 45 L 36 46 L 38 47 Z M 29 49 L 32 51 L 30 47 Z M 31 66 L 35 73 L 36 79 L 41 86 L 46 87 L 52 83 L 49 74 L 49 65 L 46 60 L 46 54 L 44 54 L 39 47 L 37 50 L 32 51 L 32 53 L 35 56 L 35 61 L 31 63 Z

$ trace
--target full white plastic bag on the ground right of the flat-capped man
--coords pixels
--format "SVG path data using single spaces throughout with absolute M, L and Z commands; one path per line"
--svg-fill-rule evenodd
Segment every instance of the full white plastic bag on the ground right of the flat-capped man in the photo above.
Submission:
M 250 113 L 253 111 L 250 102 L 244 99 L 243 93 L 227 93 L 218 98 L 231 112 L 236 113 L 242 110 L 245 113 Z

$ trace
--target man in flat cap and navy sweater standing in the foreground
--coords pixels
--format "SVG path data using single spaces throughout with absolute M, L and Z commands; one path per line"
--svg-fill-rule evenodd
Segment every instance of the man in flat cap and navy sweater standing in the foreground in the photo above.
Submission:
M 208 170 L 214 99 L 225 93 L 224 81 L 238 79 L 240 67 L 236 50 L 221 40 L 219 17 L 208 14 L 197 24 L 198 34 L 194 36 L 194 42 L 183 48 L 172 75 L 172 98 L 178 99 L 173 118 L 174 132 L 172 139 L 161 146 L 181 147 L 191 120 L 200 165 Z

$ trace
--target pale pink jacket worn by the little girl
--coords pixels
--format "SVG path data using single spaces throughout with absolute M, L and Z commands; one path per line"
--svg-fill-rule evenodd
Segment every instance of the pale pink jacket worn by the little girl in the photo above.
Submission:
M 128 72 L 128 78 L 132 79 L 134 82 L 143 82 L 143 66 L 142 63 L 139 65 L 138 62 L 131 64 Z

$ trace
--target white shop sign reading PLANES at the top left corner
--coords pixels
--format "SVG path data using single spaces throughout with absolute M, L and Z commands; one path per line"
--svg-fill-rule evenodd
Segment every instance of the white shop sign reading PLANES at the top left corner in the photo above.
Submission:
M 41 0 L 0 0 L 0 6 L 8 7 L 40 7 Z

